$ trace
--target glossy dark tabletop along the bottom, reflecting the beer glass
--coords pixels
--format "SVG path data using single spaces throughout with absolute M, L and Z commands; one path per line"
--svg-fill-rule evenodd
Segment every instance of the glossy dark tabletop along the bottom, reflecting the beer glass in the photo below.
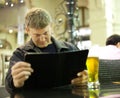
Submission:
M 0 98 L 120 98 L 120 84 L 103 84 L 99 89 L 64 86 L 46 90 L 24 90 L 8 94 L 0 87 Z

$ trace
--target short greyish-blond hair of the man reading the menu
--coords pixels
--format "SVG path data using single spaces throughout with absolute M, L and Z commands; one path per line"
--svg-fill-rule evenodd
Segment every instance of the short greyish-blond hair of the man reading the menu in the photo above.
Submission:
M 50 14 L 42 8 L 31 8 L 25 16 L 25 26 L 42 29 L 52 22 Z

